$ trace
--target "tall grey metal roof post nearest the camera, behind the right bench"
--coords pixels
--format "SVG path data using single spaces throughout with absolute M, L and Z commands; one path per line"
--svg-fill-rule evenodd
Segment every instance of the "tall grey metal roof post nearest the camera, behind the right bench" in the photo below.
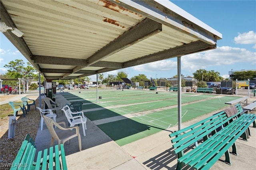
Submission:
M 177 57 L 178 63 L 178 130 L 182 128 L 182 109 L 181 109 L 181 57 Z

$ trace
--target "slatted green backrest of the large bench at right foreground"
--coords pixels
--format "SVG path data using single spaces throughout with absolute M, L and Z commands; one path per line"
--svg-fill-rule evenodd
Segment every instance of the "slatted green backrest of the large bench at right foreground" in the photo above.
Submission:
M 171 142 L 173 143 L 174 152 L 177 154 L 186 150 L 189 146 L 197 146 L 200 140 L 206 141 L 209 134 L 215 134 L 219 128 L 223 125 L 228 125 L 229 121 L 242 112 L 242 107 L 240 104 L 236 105 L 238 113 L 231 117 L 227 117 L 224 111 L 216 113 L 194 125 L 178 130 L 174 133 L 169 134 L 172 138 Z

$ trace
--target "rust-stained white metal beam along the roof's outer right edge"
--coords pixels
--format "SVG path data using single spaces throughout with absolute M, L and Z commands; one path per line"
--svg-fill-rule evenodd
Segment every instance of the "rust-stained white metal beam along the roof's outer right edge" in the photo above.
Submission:
M 186 14 L 189 15 L 190 20 L 184 18 L 184 12 L 177 10 L 177 6 L 172 3 L 169 4 L 169 9 L 162 5 L 166 2 L 161 2 L 161 0 L 111 0 L 111 2 L 128 10 L 134 11 L 134 9 L 137 9 L 136 13 L 141 14 L 142 16 L 146 16 L 147 18 L 155 20 L 161 24 L 174 28 L 178 31 L 182 31 L 184 34 L 189 34 L 195 38 L 199 38 L 201 41 L 209 43 L 210 45 L 216 44 L 217 39 L 222 39 L 222 34 L 213 30 L 209 26 L 206 26 L 200 20 L 194 19 L 190 14 Z M 211 30 L 211 32 L 208 30 Z

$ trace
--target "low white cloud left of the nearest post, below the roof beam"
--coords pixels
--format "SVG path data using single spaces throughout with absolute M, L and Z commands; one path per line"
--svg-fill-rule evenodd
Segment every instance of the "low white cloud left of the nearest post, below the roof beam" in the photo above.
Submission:
M 132 69 L 136 71 L 148 71 L 148 72 L 167 71 L 171 69 L 177 69 L 177 62 L 172 60 L 161 60 L 161 61 L 155 61 L 152 63 L 136 65 L 132 67 Z

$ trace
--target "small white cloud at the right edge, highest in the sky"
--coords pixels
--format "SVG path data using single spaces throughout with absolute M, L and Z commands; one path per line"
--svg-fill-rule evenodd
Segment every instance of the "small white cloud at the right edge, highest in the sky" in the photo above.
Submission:
M 242 34 L 238 33 L 238 36 L 234 38 L 235 43 L 240 44 L 254 44 L 256 48 L 256 33 L 254 31 L 244 32 Z

